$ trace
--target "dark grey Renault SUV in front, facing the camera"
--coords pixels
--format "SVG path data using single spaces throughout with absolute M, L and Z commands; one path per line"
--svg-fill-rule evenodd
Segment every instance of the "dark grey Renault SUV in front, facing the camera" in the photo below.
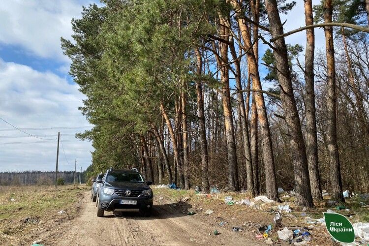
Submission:
M 97 216 L 104 216 L 104 211 L 140 212 L 150 216 L 153 209 L 152 182 L 145 182 L 136 168 L 108 169 L 97 190 Z

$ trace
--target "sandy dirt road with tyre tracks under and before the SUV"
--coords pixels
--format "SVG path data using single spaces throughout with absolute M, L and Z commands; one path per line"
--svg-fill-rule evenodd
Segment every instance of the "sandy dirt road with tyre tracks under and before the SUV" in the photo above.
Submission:
M 158 204 L 151 217 L 105 213 L 96 217 L 95 203 L 86 193 L 80 215 L 49 232 L 46 245 L 257 245 L 250 234 L 232 232 L 176 210 L 174 204 Z M 209 235 L 214 230 L 219 235 Z

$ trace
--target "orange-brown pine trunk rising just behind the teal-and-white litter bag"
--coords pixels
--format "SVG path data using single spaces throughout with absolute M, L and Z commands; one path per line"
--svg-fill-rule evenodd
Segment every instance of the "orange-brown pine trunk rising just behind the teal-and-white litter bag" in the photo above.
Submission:
M 229 41 L 229 27 L 226 19 L 219 15 L 220 31 L 219 35 Z M 232 106 L 231 106 L 231 93 L 229 88 L 229 71 L 228 66 L 228 44 L 225 42 L 219 42 L 220 53 L 220 81 L 222 85 L 222 104 L 224 111 L 224 127 L 227 141 L 227 155 L 228 155 L 228 186 L 232 191 L 239 190 L 238 182 L 238 167 L 237 167 L 237 153 L 235 132 L 233 125 Z

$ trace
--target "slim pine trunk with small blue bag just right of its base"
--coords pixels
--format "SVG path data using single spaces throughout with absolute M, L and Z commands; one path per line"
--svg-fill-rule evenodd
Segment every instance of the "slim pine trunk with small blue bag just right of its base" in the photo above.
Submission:
M 204 98 L 202 97 L 202 58 L 200 50 L 196 49 L 197 58 L 197 80 L 196 80 L 196 95 L 197 95 L 197 115 L 199 118 L 199 139 L 200 139 L 200 153 L 201 153 L 201 187 L 204 192 L 209 190 L 209 161 L 208 161 L 208 144 L 206 141 L 205 131 L 205 114 L 204 114 Z M 214 137 L 214 136 L 213 136 Z

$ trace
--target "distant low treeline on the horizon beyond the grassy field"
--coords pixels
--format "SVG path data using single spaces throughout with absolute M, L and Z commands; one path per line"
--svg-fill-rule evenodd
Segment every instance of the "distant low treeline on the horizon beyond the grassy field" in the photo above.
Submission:
M 76 173 L 76 183 L 79 183 L 80 172 Z M 82 173 L 82 183 L 85 183 L 85 174 Z M 64 184 L 74 183 L 74 172 L 58 172 L 58 178 L 64 179 Z M 55 181 L 55 172 L 24 171 L 0 172 L 0 185 L 52 185 Z

